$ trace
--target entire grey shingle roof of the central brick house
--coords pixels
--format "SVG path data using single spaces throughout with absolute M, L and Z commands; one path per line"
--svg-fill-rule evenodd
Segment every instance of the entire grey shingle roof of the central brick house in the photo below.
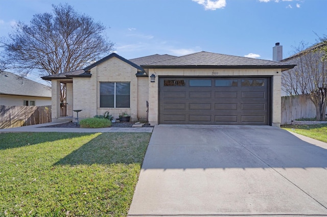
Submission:
M 44 80 L 52 79 L 72 79 L 72 77 L 90 77 L 91 74 L 89 70 L 98 64 L 112 58 L 116 57 L 120 60 L 130 64 L 131 66 L 142 71 L 143 68 L 281 68 L 282 71 L 293 68 L 295 65 L 289 63 L 276 62 L 270 60 L 259 60 L 246 57 L 237 57 L 230 55 L 222 55 L 219 53 L 212 52 L 196 52 L 190 55 L 185 55 L 181 57 L 171 56 L 171 55 L 151 55 L 146 57 L 135 58 L 127 60 L 116 53 L 111 53 L 105 58 L 97 61 L 90 66 L 71 72 L 64 72 L 60 74 L 48 75 L 42 77 Z

